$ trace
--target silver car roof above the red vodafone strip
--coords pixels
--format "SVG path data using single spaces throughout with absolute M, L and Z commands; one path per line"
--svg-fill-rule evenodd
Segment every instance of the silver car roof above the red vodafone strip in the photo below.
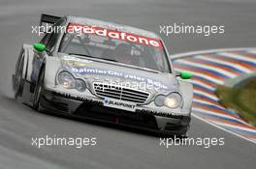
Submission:
M 114 23 L 110 21 L 103 21 L 99 19 L 92 19 L 87 17 L 79 17 L 79 16 L 68 16 L 68 20 L 70 23 L 78 23 L 78 24 L 84 24 L 84 25 L 93 25 L 98 26 L 106 29 L 112 29 L 120 32 L 125 33 L 131 33 L 136 34 L 139 36 L 147 37 L 147 38 L 153 38 L 153 39 L 160 39 L 158 35 L 156 35 L 153 32 L 136 28 L 133 26 L 123 25 L 119 23 Z

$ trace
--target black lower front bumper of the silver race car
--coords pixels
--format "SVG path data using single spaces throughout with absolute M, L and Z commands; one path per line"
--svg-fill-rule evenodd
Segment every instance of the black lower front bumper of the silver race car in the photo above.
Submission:
M 190 112 L 186 115 L 174 115 L 145 106 L 138 106 L 135 112 L 130 112 L 106 107 L 103 105 L 103 99 L 100 98 L 77 97 L 49 90 L 44 91 L 41 106 L 52 112 L 76 114 L 113 124 L 173 133 L 185 133 L 190 123 Z

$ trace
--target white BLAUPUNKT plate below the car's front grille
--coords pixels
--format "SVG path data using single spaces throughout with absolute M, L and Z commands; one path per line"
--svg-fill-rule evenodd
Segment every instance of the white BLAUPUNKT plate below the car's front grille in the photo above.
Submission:
M 136 104 L 130 101 L 105 98 L 104 106 L 135 112 Z

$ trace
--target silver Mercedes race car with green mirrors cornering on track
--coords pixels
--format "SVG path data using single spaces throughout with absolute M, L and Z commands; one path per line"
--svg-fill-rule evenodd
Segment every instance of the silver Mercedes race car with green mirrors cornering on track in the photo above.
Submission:
M 192 76 L 172 67 L 154 33 L 85 17 L 42 14 L 41 42 L 23 44 L 13 75 L 16 99 L 38 111 L 184 135 Z

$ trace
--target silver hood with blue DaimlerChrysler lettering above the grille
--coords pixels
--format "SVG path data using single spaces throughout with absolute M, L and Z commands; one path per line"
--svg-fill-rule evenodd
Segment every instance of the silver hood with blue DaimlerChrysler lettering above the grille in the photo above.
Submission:
M 75 55 L 63 55 L 60 60 L 63 70 L 83 78 L 88 86 L 94 82 L 111 83 L 164 95 L 178 89 L 176 77 L 171 73 Z

